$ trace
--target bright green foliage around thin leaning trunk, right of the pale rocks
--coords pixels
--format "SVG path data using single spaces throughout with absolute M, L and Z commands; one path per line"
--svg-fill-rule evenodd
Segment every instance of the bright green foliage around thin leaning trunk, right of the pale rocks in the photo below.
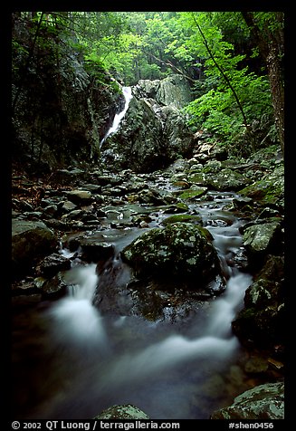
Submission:
M 186 113 L 193 129 L 207 129 L 216 138 L 235 144 L 244 139 L 245 119 L 252 126 L 271 115 L 271 91 L 266 76 L 241 66 L 245 55 L 234 54 L 234 45 L 224 41 L 214 18 L 216 14 L 181 14 L 182 23 L 195 28 L 186 46 L 192 53 L 203 53 L 206 68 L 205 81 L 196 85 L 196 100 L 186 107 Z

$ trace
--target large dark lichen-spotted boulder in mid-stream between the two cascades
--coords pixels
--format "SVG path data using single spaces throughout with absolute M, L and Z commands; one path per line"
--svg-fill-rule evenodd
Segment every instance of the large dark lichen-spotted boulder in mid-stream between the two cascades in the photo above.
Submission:
M 195 279 L 197 288 L 219 273 L 211 234 L 199 225 L 177 223 L 150 229 L 121 255 L 139 276 Z

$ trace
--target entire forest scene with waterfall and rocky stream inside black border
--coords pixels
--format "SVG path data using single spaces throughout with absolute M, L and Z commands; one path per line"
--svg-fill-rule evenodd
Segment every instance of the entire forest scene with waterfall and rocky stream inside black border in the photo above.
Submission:
M 14 429 L 285 418 L 285 23 L 11 14 Z

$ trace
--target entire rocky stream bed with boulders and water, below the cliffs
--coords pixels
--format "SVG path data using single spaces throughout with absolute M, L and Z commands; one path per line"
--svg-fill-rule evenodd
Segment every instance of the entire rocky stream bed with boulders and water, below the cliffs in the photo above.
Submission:
M 283 418 L 277 148 L 13 174 L 14 418 Z

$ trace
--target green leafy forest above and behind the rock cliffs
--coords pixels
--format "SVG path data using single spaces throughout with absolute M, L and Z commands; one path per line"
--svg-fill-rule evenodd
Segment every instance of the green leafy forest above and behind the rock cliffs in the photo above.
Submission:
M 13 20 L 28 32 L 12 41 L 14 109 L 33 62 L 49 68 L 74 53 L 96 81 L 106 71 L 127 86 L 180 74 L 193 94 L 185 108 L 193 130 L 243 155 L 275 142 L 283 151 L 281 12 L 21 12 Z

